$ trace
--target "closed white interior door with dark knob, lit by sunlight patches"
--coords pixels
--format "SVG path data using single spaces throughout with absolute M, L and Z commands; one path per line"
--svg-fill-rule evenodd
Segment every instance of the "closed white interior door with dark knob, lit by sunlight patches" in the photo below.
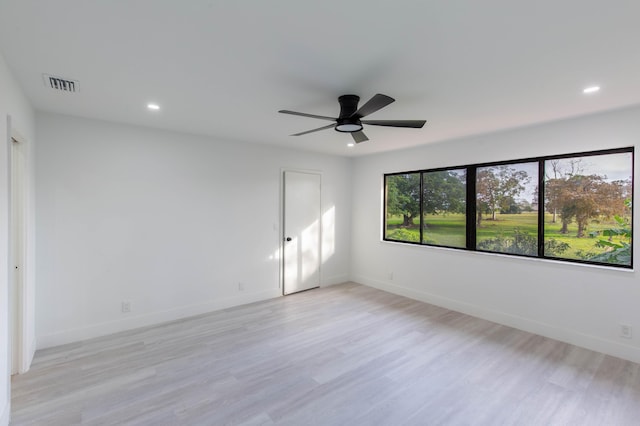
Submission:
M 320 175 L 284 172 L 284 294 L 320 286 Z

